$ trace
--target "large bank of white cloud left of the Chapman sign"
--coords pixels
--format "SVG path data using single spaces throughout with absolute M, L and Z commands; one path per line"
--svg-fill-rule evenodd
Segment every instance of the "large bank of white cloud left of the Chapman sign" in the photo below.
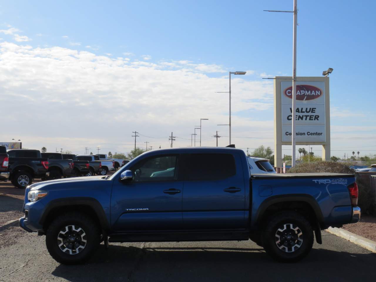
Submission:
M 211 136 L 218 130 L 217 124 L 228 120 L 228 96 L 214 92 L 227 91 L 228 79 L 208 77 L 205 72 L 221 72 L 221 66 L 166 62 L 176 65 L 170 69 L 162 62 L 128 64 L 128 60 L 62 47 L 0 42 L 0 92 L 4 94 L 0 103 L 8 105 L 3 122 L 23 124 L 25 130 L 19 138 L 29 148 L 39 149 L 47 144 L 82 153 L 84 147 L 100 145 L 113 148 L 109 149 L 111 152 L 129 152 L 135 129 L 142 135 L 158 137 L 150 140 L 141 135 L 137 139 L 140 147 L 150 141 L 150 146 L 167 148 L 171 131 L 180 138 L 176 146 L 190 146 L 194 125 L 205 117 L 209 120 L 202 131 L 202 145 L 215 145 Z M 273 103 L 271 82 L 234 78 L 232 91 L 234 113 L 269 109 Z M 53 119 L 46 118 L 46 109 L 54 113 Z M 232 128 L 237 132 L 233 136 L 238 147 L 256 144 L 235 136 L 272 132 L 270 112 L 263 115 L 267 118 L 262 121 L 255 119 L 259 115 L 233 116 Z M 35 131 L 36 123 L 44 126 Z M 105 129 L 108 134 L 98 139 L 98 129 Z M 220 135 L 227 136 L 227 129 L 219 130 Z M 7 134 L 17 133 L 17 127 L 10 127 Z M 259 137 L 266 139 L 258 142 L 272 145 L 273 140 L 265 134 Z M 218 141 L 220 146 L 226 146 L 228 138 Z

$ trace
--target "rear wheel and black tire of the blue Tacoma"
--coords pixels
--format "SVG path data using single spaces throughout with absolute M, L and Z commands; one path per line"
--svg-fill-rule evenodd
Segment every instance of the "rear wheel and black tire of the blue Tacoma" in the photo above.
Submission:
M 262 245 L 273 259 L 296 262 L 308 255 L 313 240 L 309 221 L 298 212 L 285 211 L 274 215 L 267 223 Z

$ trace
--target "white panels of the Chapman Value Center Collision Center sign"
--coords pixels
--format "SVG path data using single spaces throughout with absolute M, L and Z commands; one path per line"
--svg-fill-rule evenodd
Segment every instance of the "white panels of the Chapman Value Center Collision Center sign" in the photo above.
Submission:
M 296 85 L 296 142 L 325 142 L 325 85 L 324 82 L 303 82 Z M 282 142 L 291 142 L 293 119 L 293 86 L 281 81 Z

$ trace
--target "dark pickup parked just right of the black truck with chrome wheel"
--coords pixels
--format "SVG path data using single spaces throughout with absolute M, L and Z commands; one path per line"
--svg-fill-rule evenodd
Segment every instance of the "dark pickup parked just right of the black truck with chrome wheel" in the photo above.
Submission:
M 60 179 L 70 177 L 73 171 L 73 160 L 63 159 L 61 153 L 41 153 L 42 158 L 48 159 L 48 171 L 50 176 L 48 179 Z

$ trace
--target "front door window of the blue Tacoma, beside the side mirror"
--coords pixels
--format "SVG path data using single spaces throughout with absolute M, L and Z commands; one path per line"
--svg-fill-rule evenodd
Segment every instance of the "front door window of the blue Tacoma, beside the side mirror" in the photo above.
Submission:
M 135 182 L 176 180 L 176 167 L 176 156 L 157 156 L 136 164 L 132 173 Z

